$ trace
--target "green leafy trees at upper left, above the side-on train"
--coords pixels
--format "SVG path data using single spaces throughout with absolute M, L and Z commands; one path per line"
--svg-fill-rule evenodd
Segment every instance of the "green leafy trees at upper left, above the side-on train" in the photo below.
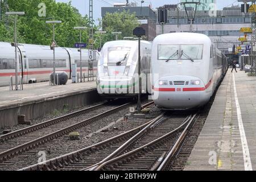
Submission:
M 89 27 L 87 16 L 82 17 L 79 11 L 69 3 L 56 3 L 54 0 L 9 0 L 9 11 L 24 11 L 24 16 L 18 18 L 18 42 L 28 44 L 49 45 L 52 41 L 52 24 L 46 20 L 61 20 L 56 24 L 55 39 L 59 46 L 73 47 L 79 42 L 79 31 L 73 30 L 75 26 Z M 46 17 L 40 17 L 39 3 L 46 4 Z M 7 20 L 7 24 L 6 24 Z M 0 22 L 0 41 L 11 42 L 14 37 L 14 17 L 5 16 Z M 88 32 L 82 32 L 82 41 L 88 42 Z

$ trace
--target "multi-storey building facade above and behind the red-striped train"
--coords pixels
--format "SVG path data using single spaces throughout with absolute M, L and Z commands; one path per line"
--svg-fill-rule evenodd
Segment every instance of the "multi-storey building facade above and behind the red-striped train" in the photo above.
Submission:
M 178 13 L 179 11 L 179 13 Z M 251 17 L 241 13 L 241 7 L 226 7 L 223 10 L 197 11 L 192 32 L 205 34 L 216 43 L 222 51 L 238 45 L 238 38 L 244 36 L 240 32 L 242 27 L 251 27 Z M 184 10 L 168 9 L 168 22 L 164 24 L 164 34 L 170 32 L 189 32 L 190 24 Z M 162 34 L 162 26 L 156 25 L 156 35 Z

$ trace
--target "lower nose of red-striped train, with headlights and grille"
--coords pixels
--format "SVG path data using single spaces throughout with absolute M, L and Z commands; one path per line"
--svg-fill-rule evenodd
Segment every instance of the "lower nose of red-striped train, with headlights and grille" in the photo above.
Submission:
M 197 77 L 163 77 L 154 85 L 154 101 L 160 107 L 189 109 L 205 104 L 209 98 L 204 82 Z

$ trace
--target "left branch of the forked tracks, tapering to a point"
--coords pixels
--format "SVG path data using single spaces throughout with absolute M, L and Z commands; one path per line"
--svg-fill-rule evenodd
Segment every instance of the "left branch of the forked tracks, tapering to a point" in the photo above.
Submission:
M 154 122 L 156 119 L 153 119 L 152 121 L 147 122 L 133 130 L 127 131 L 126 133 L 94 144 L 93 146 L 47 160 L 44 163 L 39 163 L 20 169 L 20 171 L 77 171 L 91 167 L 93 164 L 101 162 L 101 160 L 112 154 L 112 152 L 117 150 L 118 147 L 122 146 L 123 143 L 125 143 L 135 134 L 138 134 L 139 131 L 142 131 L 144 127 L 149 126 L 150 123 Z

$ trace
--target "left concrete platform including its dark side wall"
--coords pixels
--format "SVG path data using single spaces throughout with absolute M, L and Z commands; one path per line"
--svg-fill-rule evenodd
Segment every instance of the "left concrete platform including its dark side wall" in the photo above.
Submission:
M 49 82 L 23 85 L 23 90 L 10 91 L 0 87 L 0 128 L 18 124 L 18 115 L 26 119 L 42 117 L 54 109 L 70 109 L 100 101 L 96 82 L 49 86 Z

